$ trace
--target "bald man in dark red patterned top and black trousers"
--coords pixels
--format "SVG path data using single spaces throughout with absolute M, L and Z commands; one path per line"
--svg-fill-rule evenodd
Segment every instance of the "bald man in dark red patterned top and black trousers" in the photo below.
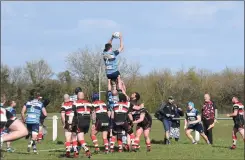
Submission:
M 215 109 L 216 106 L 213 101 L 211 101 L 210 95 L 206 93 L 204 95 L 204 104 L 202 107 L 202 122 L 204 127 L 204 133 L 207 135 L 208 140 L 213 144 L 213 133 L 212 129 L 214 127 L 215 120 Z

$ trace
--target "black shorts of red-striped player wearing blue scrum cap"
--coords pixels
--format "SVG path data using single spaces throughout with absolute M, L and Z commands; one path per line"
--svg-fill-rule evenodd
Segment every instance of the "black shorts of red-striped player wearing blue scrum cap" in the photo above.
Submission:
M 99 132 L 104 132 L 109 130 L 109 117 L 108 115 L 96 115 L 95 129 Z

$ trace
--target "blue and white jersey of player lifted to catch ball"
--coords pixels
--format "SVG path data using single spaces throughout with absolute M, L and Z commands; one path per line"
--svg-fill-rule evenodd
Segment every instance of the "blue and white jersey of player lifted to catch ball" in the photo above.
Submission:
M 119 51 L 103 52 L 103 59 L 105 61 L 106 74 L 112 74 L 118 71 L 117 55 Z

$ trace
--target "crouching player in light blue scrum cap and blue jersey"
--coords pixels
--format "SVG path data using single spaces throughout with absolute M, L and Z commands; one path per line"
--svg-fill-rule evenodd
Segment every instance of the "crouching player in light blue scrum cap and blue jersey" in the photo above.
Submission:
M 186 136 L 192 141 L 192 144 L 197 144 L 191 135 L 193 130 L 198 131 L 206 143 L 210 144 L 208 137 L 204 134 L 203 131 L 200 113 L 196 108 L 194 108 L 193 102 L 188 102 L 184 129 Z

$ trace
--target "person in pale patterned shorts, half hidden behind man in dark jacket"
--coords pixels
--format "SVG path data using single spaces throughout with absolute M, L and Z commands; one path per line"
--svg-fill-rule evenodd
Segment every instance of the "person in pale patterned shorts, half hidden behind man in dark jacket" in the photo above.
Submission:
M 174 118 L 180 118 L 180 116 L 184 116 L 183 110 L 175 105 L 175 115 Z M 170 128 L 170 138 L 174 138 L 175 141 L 179 140 L 180 137 L 180 120 L 172 120 L 172 125 Z

